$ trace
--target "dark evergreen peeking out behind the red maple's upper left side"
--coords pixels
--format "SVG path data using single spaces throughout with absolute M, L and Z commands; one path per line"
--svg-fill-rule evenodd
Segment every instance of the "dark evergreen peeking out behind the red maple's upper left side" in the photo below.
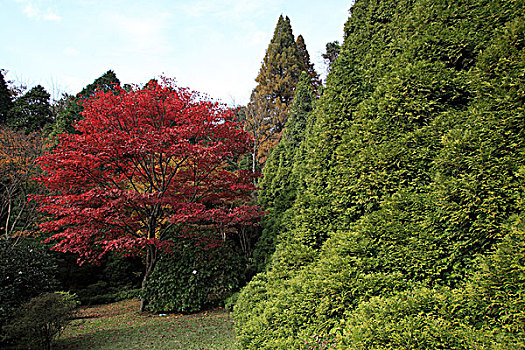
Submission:
M 62 132 L 74 133 L 73 124 L 80 120 L 82 116 L 80 112 L 84 110 L 82 101 L 89 99 L 96 90 L 111 91 L 115 86 L 120 86 L 120 81 L 115 72 L 108 70 L 95 81 L 80 91 L 77 96 L 71 100 L 66 109 L 61 111 L 57 116 L 53 134 L 60 134 Z

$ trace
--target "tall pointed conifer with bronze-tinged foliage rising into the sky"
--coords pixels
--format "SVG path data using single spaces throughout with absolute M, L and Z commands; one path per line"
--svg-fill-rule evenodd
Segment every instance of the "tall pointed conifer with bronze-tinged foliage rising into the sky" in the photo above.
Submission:
M 247 108 L 246 129 L 255 139 L 253 170 L 262 167 L 279 142 L 301 72 L 316 76 L 304 40 L 300 45 L 299 50 L 290 19 L 281 15 Z

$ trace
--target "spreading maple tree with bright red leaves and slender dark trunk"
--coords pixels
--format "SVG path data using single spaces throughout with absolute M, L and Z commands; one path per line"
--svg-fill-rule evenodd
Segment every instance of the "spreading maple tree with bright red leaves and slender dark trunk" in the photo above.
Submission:
M 109 251 L 145 253 L 142 287 L 168 233 L 187 225 L 249 225 L 254 174 L 236 167 L 251 137 L 230 110 L 170 81 L 98 92 L 84 103 L 78 134 L 39 158 L 40 228 L 53 249 L 97 261 Z M 144 300 L 141 308 L 144 308 Z

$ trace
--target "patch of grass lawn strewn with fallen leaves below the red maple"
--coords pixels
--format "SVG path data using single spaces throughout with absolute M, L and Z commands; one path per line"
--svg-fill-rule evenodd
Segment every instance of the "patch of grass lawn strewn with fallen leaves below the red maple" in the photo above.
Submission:
M 224 309 L 193 315 L 141 314 L 139 301 L 81 308 L 55 349 L 235 349 Z

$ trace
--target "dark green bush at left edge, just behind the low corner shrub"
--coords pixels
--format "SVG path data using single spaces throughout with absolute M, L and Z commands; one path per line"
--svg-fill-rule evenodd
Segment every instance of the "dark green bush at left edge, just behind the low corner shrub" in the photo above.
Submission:
M 0 329 L 20 305 L 54 290 L 55 274 L 56 265 L 43 245 L 0 239 Z

